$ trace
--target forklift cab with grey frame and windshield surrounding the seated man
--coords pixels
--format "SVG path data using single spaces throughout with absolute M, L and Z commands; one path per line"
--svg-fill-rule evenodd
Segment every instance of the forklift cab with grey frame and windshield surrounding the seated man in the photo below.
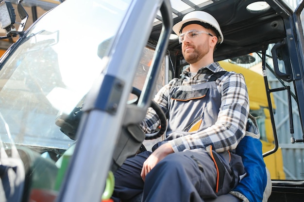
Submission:
M 284 0 L 67 0 L 23 30 L 22 1 L 17 23 L 1 1 L 8 17 L 0 18 L 0 39 L 19 36 L 0 59 L 1 182 L 14 179 L 3 187 L 15 187 L 3 188 L 6 201 L 100 202 L 105 192 L 108 200 L 109 171 L 162 139 L 166 121 L 152 136 L 138 124 L 153 95 L 188 65 L 172 25 L 203 10 L 224 35 L 215 61 L 245 77 L 270 171 L 268 202 L 302 202 L 303 7 Z

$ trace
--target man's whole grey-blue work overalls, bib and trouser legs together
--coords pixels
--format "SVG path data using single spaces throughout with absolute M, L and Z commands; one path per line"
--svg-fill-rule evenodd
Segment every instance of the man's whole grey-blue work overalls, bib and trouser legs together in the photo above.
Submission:
M 154 145 L 152 150 L 178 138 L 170 135 L 172 131 L 197 132 L 215 124 L 221 103 L 215 80 L 223 74 L 230 73 L 219 73 L 203 84 L 183 86 L 177 82 L 171 88 L 166 139 Z M 202 198 L 228 193 L 245 173 L 241 157 L 232 152 L 218 154 L 209 145 L 166 156 L 143 183 L 135 176 L 140 177 L 142 163 L 150 154 L 144 152 L 127 159 L 115 173 L 116 197 L 128 200 L 143 188 L 145 202 L 203 202 Z

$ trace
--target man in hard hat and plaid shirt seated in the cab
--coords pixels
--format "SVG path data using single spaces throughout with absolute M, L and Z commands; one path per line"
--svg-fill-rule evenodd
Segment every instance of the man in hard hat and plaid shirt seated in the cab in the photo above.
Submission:
M 242 75 L 214 62 L 223 42 L 219 23 L 194 11 L 173 31 L 190 65 L 183 79 L 172 79 L 154 98 L 168 118 L 166 139 L 115 173 L 115 201 L 142 193 L 143 202 L 202 202 L 229 193 L 246 174 L 241 157 L 230 151 L 245 136 L 248 93 Z M 142 129 L 151 133 L 159 124 L 148 110 Z

